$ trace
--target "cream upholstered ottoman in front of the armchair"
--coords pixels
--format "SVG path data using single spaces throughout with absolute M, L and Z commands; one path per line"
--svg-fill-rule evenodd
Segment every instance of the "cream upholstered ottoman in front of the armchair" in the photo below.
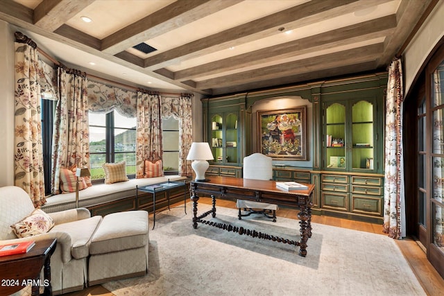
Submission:
M 145 275 L 148 243 L 147 211 L 125 211 L 103 217 L 89 245 L 89 286 Z

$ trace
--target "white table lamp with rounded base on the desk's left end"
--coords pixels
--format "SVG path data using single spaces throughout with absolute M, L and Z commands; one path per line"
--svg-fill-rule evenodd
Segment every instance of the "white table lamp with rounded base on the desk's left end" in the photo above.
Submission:
M 210 164 L 207 160 L 214 159 L 213 154 L 210 149 L 210 145 L 207 142 L 193 142 L 191 143 L 191 148 L 189 148 L 189 153 L 187 160 L 193 160 L 191 163 L 191 168 L 193 168 L 196 173 L 196 181 L 205 182 L 205 171 L 207 171 Z

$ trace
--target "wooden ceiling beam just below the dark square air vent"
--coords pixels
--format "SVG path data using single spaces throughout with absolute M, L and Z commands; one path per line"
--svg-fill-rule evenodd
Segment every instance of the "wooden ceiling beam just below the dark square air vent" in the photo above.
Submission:
M 370 8 L 385 2 L 388 2 L 388 0 L 311 0 L 261 19 L 256 19 L 200 40 L 189 42 L 175 49 L 153 55 L 145 60 L 145 67 L 151 70 L 168 67 L 171 64 L 190 58 L 228 49 L 230 46 L 237 46 L 275 35 L 280 27 L 284 27 L 286 30 L 294 30 L 302 26 L 315 24 L 317 21 L 339 17 L 345 13 Z

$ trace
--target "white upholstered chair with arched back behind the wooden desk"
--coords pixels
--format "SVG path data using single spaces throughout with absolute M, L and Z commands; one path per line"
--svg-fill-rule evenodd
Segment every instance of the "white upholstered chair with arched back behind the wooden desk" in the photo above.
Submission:
M 271 157 L 261 153 L 254 153 L 244 157 L 244 176 L 245 179 L 271 180 L 273 179 L 273 164 Z M 236 206 L 239 208 L 239 220 L 244 216 L 251 214 L 264 214 L 264 216 L 273 219 L 276 222 L 277 204 L 268 204 L 266 202 L 253 202 L 250 200 L 237 200 Z M 244 213 L 242 212 L 244 209 Z M 258 210 L 259 209 L 259 210 Z

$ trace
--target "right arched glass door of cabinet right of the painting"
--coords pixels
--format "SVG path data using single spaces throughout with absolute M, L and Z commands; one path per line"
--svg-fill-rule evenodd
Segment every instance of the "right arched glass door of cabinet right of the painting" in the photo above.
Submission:
M 373 104 L 358 101 L 352 105 L 352 168 L 374 169 Z

